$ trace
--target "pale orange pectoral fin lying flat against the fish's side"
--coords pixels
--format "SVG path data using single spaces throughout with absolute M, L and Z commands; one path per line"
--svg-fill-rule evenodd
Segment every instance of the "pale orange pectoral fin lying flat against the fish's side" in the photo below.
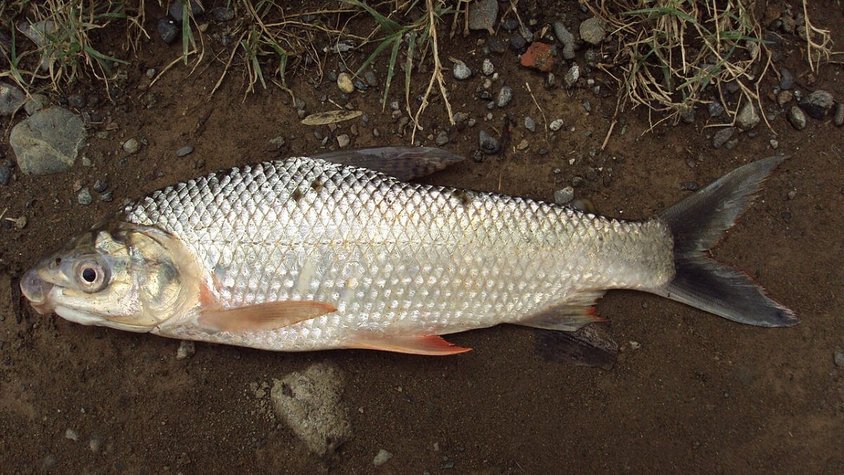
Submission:
M 337 308 L 330 303 L 310 300 L 284 300 L 241 308 L 212 306 L 199 312 L 197 323 L 214 331 L 273 330 L 336 311 Z

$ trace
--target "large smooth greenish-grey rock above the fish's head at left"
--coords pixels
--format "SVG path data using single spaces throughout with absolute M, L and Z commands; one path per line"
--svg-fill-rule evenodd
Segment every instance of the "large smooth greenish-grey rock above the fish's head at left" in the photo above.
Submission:
M 22 172 L 33 175 L 66 172 L 85 145 L 85 127 L 73 112 L 51 107 L 14 126 L 8 141 Z

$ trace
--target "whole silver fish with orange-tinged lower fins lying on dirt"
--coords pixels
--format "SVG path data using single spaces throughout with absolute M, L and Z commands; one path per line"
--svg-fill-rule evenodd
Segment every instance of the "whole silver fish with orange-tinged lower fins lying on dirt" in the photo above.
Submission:
M 272 351 L 470 350 L 503 323 L 574 331 L 611 289 L 735 322 L 798 323 L 710 250 L 786 157 L 749 162 L 657 216 L 413 183 L 446 150 L 376 147 L 212 172 L 122 206 L 21 277 L 40 314 Z

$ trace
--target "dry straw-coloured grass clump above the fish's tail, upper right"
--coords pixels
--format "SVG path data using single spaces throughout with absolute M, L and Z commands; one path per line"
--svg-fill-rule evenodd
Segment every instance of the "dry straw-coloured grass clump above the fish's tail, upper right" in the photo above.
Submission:
M 733 83 L 744 101 L 759 104 L 759 83 L 771 66 L 771 52 L 762 40 L 753 2 L 644 4 L 647 8 L 635 0 L 589 5 L 614 30 L 619 43 L 612 61 L 624 72 L 615 78 L 622 86 L 619 102 L 623 97 L 634 106 L 666 113 L 662 120 L 677 120 L 684 110 L 710 101 L 707 88 L 724 97 L 722 87 Z M 731 117 L 741 102 L 728 110 Z

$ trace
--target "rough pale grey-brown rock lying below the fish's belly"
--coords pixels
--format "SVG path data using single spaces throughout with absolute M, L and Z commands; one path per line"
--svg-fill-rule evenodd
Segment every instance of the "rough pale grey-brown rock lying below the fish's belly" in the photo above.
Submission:
M 308 450 L 327 456 L 351 439 L 349 413 L 340 401 L 344 374 L 328 363 L 276 379 L 270 398 L 279 416 Z

